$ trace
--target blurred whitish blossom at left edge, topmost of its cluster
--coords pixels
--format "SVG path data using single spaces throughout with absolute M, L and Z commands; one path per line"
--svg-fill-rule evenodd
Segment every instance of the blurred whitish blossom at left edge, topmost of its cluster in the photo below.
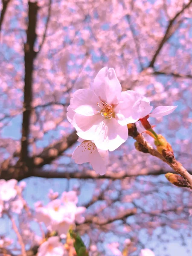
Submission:
M 17 180 L 0 180 L 0 200 L 9 201 L 12 198 L 15 198 L 17 195 L 17 190 L 15 186 L 17 185 Z

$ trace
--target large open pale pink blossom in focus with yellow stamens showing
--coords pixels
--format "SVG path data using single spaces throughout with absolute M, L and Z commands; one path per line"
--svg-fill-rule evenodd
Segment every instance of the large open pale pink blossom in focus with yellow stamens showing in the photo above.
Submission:
M 97 148 L 109 151 L 127 140 L 126 125 L 136 122 L 145 109 L 140 94 L 121 90 L 115 70 L 104 67 L 90 89 L 79 89 L 74 93 L 67 118 L 79 137 L 94 141 Z

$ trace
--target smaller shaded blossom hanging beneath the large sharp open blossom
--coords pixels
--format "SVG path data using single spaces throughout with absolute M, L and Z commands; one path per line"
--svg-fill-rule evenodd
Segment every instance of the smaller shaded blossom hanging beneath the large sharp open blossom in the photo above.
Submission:
M 77 146 L 72 154 L 72 159 L 75 163 L 90 163 L 93 170 L 104 175 L 107 171 L 109 152 L 108 150 L 102 150 L 96 147 L 95 143 L 90 140 L 83 140 L 79 138 L 81 145 Z

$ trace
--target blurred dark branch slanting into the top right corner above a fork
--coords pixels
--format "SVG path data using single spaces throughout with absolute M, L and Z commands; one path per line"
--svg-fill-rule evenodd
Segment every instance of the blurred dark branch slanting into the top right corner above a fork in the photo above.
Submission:
M 189 3 L 186 4 L 180 12 L 177 12 L 177 14 L 175 15 L 175 17 L 173 17 L 171 20 L 169 20 L 169 24 L 168 24 L 168 26 L 167 26 L 165 35 L 164 35 L 164 37 L 162 38 L 162 40 L 160 41 L 160 44 L 159 44 L 159 46 L 158 46 L 158 48 L 157 48 L 157 50 L 156 50 L 156 52 L 155 52 L 155 54 L 154 54 L 154 56 L 153 56 L 153 58 L 152 58 L 152 60 L 151 60 L 151 62 L 150 62 L 150 64 L 149 64 L 148 67 L 154 67 L 154 63 L 155 63 L 155 61 L 156 61 L 156 58 L 157 58 L 158 54 L 160 53 L 160 51 L 161 51 L 163 45 L 164 45 L 164 44 L 166 43 L 166 41 L 170 38 L 170 32 L 171 32 L 171 29 L 172 29 L 172 26 L 173 26 L 175 20 L 177 19 L 177 17 L 178 17 L 179 15 L 181 15 L 181 14 L 184 12 L 185 9 L 187 9 L 187 8 L 191 5 L 191 3 L 192 3 L 192 0 L 190 0 Z M 174 33 L 174 32 L 172 32 L 171 35 L 173 35 L 173 33 Z

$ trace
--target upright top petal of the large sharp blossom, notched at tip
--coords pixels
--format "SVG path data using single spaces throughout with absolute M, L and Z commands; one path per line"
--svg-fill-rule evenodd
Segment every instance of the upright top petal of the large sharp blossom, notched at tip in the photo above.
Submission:
M 93 90 L 95 94 L 103 102 L 108 104 L 118 104 L 121 97 L 121 84 L 116 77 L 113 68 L 103 67 L 96 75 L 93 82 Z

